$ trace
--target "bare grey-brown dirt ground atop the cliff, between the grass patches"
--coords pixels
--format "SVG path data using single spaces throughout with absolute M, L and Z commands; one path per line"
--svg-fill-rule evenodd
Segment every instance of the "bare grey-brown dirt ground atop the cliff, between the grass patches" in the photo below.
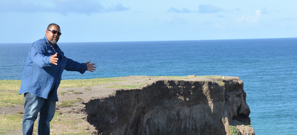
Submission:
M 189 78 L 193 78 L 193 77 L 195 77 L 195 75 L 190 76 Z M 150 76 L 125 76 L 125 77 L 118 77 L 118 79 L 121 79 L 123 81 L 116 82 L 116 83 L 106 83 L 102 85 L 95 85 L 91 87 L 73 87 L 73 88 L 63 88 L 63 89 L 59 88 L 58 89 L 59 101 L 56 102 L 56 112 L 59 112 L 62 118 L 63 116 L 68 116 L 67 119 L 70 118 L 72 119 L 72 121 L 75 121 L 76 122 L 75 126 L 83 127 L 82 129 L 85 130 L 84 132 L 86 132 L 86 134 L 99 134 L 97 133 L 95 127 L 89 124 L 86 120 L 87 115 L 85 112 L 86 110 L 84 108 L 85 103 L 89 102 L 89 100 L 91 99 L 101 99 L 101 98 L 112 96 L 116 93 L 116 90 L 121 89 L 121 88 L 114 88 L 114 87 L 109 88 L 108 86 L 116 86 L 116 85 L 129 86 L 130 85 L 130 87 L 139 86 L 138 88 L 140 89 L 142 86 L 146 86 L 147 84 L 152 84 L 154 81 L 159 79 L 164 79 L 164 78 L 150 77 Z M 20 96 L 23 96 L 23 94 Z M 68 106 L 63 104 L 63 103 L 67 103 L 68 101 L 77 101 L 77 102 L 73 104 L 70 103 L 70 105 Z M 20 114 L 24 112 L 24 110 L 23 110 L 23 105 L 14 105 L 13 107 L 0 107 L 0 112 L 1 112 L 1 115 Z M 67 124 L 66 125 L 59 124 L 60 119 L 61 118 L 57 118 L 55 120 L 55 123 L 51 122 L 51 126 L 50 126 L 51 134 L 61 134 L 61 133 L 64 134 L 65 131 L 75 132 L 75 130 L 71 129 L 73 127 L 67 126 Z M 21 134 L 21 129 L 18 131 L 13 131 L 10 134 Z

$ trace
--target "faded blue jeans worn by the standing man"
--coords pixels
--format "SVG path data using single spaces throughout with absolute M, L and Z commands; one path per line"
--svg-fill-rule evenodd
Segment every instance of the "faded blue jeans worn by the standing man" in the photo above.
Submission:
M 23 135 L 33 133 L 34 122 L 38 115 L 38 135 L 50 134 L 50 121 L 53 119 L 56 111 L 56 101 L 49 98 L 44 99 L 31 93 L 25 93 L 25 105 L 23 116 Z

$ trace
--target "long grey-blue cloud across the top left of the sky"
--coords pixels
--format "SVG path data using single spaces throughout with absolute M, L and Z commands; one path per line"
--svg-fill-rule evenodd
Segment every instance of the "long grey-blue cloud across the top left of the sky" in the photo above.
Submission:
M 104 13 L 129 10 L 120 3 L 103 6 L 99 1 L 94 0 L 50 0 L 50 1 L 1 1 L 0 12 L 58 12 L 67 14 L 75 13 Z

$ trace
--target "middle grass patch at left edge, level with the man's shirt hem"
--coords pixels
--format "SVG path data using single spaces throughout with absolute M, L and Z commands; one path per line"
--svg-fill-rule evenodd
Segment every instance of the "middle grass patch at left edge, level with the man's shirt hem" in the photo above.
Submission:
M 0 92 L 0 106 L 24 105 L 24 101 L 24 95 L 19 95 L 18 92 Z

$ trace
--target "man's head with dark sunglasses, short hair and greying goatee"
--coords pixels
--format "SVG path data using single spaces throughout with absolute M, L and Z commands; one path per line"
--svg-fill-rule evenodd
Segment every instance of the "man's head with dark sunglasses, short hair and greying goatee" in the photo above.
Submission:
M 58 42 L 61 34 L 60 26 L 55 23 L 48 25 L 48 28 L 45 31 L 45 36 L 52 45 L 55 45 Z

